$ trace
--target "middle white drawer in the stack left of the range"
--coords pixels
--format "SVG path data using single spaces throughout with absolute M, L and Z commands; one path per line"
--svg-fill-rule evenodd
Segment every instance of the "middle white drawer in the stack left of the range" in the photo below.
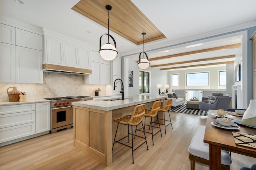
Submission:
M 36 121 L 36 111 L 0 115 L 0 129 Z

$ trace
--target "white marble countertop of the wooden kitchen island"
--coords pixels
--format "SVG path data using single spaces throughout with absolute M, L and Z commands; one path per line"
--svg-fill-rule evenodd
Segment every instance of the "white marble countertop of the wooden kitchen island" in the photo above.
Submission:
M 104 100 L 87 100 L 80 102 L 72 102 L 73 106 L 86 107 L 90 109 L 97 109 L 103 111 L 110 111 L 120 109 L 123 107 L 134 106 L 147 102 L 154 102 L 156 100 L 164 99 L 165 96 L 130 96 L 124 100 L 104 101 Z

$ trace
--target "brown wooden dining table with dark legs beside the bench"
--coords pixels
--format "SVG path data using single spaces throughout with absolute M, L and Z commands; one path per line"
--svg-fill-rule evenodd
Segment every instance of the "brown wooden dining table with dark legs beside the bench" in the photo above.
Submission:
M 227 150 L 256 158 L 255 148 L 237 145 L 232 135 L 232 131 L 256 135 L 255 128 L 238 124 L 240 127 L 239 129 L 224 129 L 212 125 L 214 119 L 216 119 L 216 110 L 209 110 L 204 133 L 204 143 L 209 144 L 210 170 L 221 170 L 221 150 Z M 242 117 L 234 116 L 231 119 L 234 119 L 235 121 L 242 120 Z

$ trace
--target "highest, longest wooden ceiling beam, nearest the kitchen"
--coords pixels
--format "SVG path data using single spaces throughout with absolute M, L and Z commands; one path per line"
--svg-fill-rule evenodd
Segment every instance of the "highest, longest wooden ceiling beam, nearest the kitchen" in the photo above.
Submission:
M 190 51 L 190 52 L 186 52 L 186 53 L 166 55 L 166 56 L 162 56 L 162 57 L 155 57 L 155 58 L 148 59 L 148 60 L 149 61 L 154 61 L 154 60 L 169 59 L 169 58 L 172 58 L 172 57 L 180 57 L 180 56 L 184 56 L 184 55 L 192 55 L 192 54 L 205 53 L 205 52 L 223 50 L 223 49 L 234 49 L 234 48 L 238 48 L 238 47 L 241 47 L 241 43 L 231 44 L 231 45 L 224 45 L 224 46 L 220 46 L 220 47 L 213 47 L 213 48 L 202 49 L 202 50 L 197 50 L 197 51 Z M 137 61 L 137 63 L 138 63 L 138 61 Z

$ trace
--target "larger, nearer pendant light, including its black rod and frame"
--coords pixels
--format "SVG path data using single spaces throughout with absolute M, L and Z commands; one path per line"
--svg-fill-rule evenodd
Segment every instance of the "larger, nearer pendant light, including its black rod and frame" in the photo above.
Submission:
M 110 5 L 106 6 L 106 9 L 108 10 L 108 33 L 103 34 L 103 35 L 108 35 L 108 43 L 104 44 L 101 46 L 101 38 L 100 37 L 100 56 L 102 57 L 102 59 L 104 60 L 113 60 L 114 58 L 116 58 L 117 55 L 117 51 L 116 51 L 116 41 L 114 40 L 114 38 L 109 34 L 109 11 L 112 9 L 112 7 Z M 114 41 L 114 45 L 109 43 L 109 37 L 112 38 L 112 40 Z

